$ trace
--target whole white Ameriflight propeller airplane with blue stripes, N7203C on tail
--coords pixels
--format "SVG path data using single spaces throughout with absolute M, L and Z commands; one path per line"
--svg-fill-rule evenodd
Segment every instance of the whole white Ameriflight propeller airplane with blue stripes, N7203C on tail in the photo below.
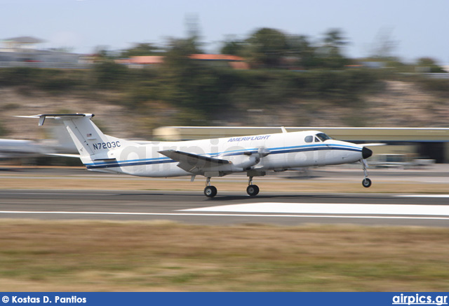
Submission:
M 195 175 L 206 177 L 204 194 L 215 197 L 217 188 L 210 178 L 230 173 L 246 172 L 249 180 L 246 192 L 259 193 L 253 177 L 267 171 L 286 171 L 309 166 L 350 164 L 361 161 L 365 178 L 363 187 L 370 187 L 366 159 L 373 151 L 363 145 L 334 140 L 319 131 L 302 131 L 213 138 L 180 142 L 128 141 L 105 135 L 91 120 L 93 114 L 39 114 L 20 116 L 46 118 L 62 123 L 72 137 L 83 164 L 91 171 L 126 173 L 149 177 Z M 60 154 L 74 157 L 73 154 Z

